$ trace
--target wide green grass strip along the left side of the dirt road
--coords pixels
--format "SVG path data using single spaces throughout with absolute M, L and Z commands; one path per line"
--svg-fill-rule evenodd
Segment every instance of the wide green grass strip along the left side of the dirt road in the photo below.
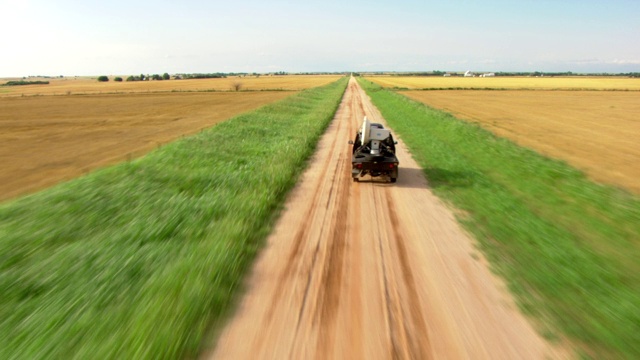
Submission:
M 0 205 L 0 358 L 197 357 L 346 84 Z

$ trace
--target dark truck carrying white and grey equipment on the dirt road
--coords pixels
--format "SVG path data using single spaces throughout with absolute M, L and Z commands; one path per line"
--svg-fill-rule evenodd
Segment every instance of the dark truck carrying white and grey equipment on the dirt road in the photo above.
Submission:
M 393 135 L 382 124 L 371 123 L 365 116 L 362 126 L 356 133 L 351 157 L 351 176 L 353 181 L 365 175 L 387 177 L 392 183 L 398 179 L 398 158 Z

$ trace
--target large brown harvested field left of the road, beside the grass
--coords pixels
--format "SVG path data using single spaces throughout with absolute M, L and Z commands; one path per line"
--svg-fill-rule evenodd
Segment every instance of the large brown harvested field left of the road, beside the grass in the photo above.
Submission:
M 291 92 L 0 98 L 0 200 L 196 133 Z

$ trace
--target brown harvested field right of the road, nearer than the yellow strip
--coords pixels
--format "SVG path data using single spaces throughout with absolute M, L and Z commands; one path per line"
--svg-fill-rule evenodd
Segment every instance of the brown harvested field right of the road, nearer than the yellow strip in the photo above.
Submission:
M 596 181 L 640 193 L 639 92 L 401 93 L 478 123 L 522 146 L 565 160 Z

